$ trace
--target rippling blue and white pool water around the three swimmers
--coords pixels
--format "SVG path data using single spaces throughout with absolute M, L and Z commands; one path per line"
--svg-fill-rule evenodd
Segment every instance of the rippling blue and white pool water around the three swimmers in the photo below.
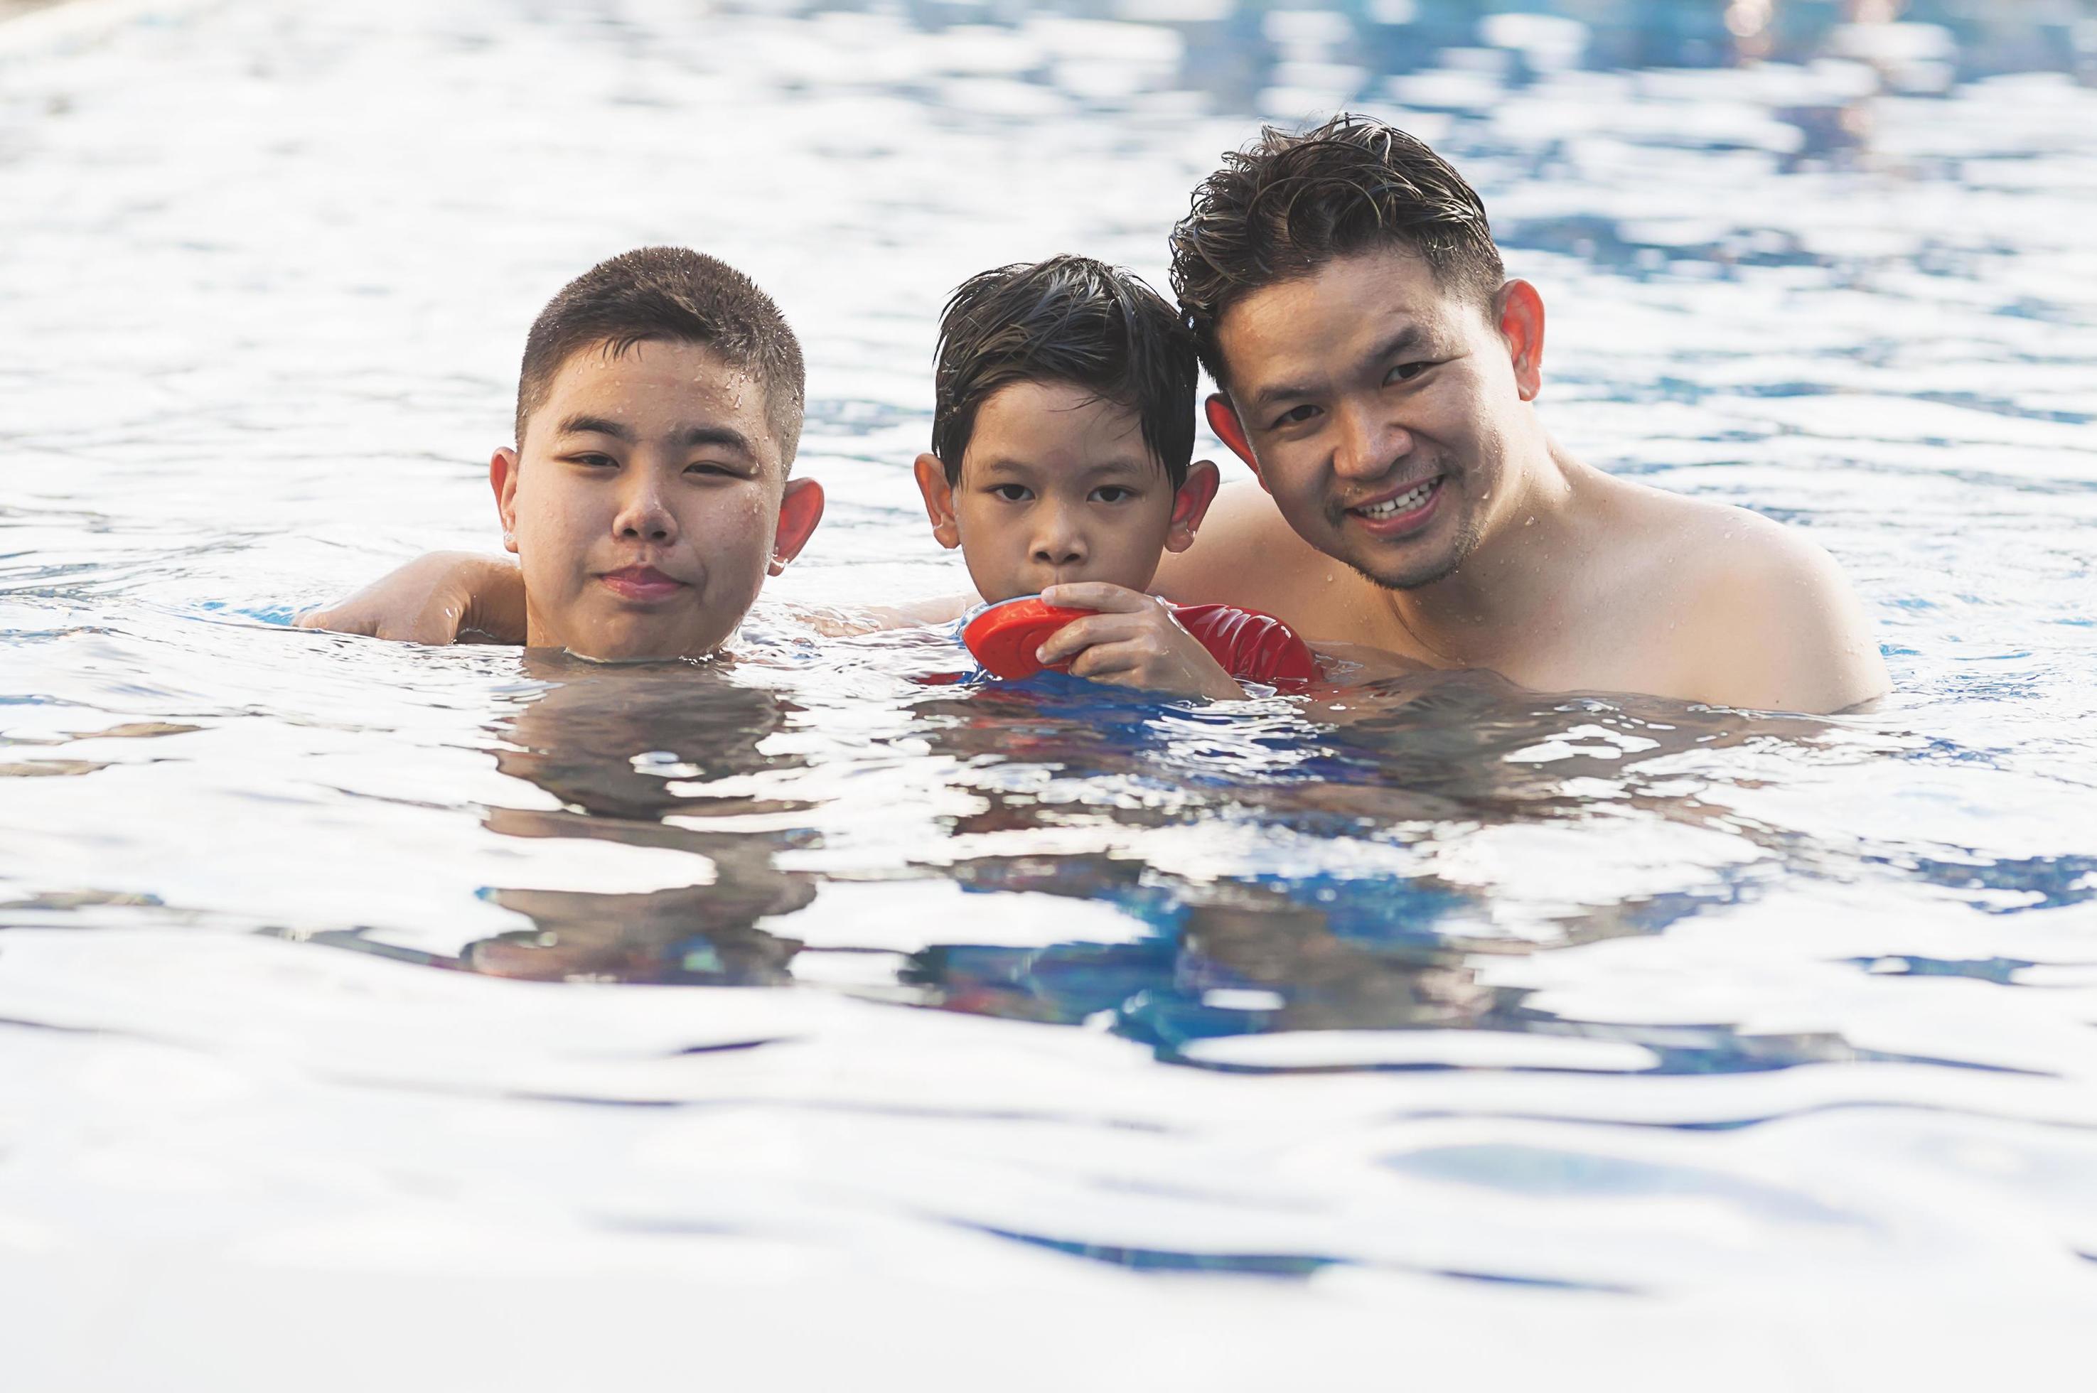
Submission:
M 2087 1328 L 2097 19 L 1778 4 L 1728 65 L 1766 6 L 1485 8 L 0 25 L 36 1387 L 1936 1387 Z M 833 508 L 770 600 L 956 590 L 908 483 L 950 285 L 1164 283 L 1216 155 L 1338 107 L 1480 187 L 1562 443 L 1841 560 L 1883 709 L 285 627 L 493 543 L 524 327 L 648 241 L 809 348 Z

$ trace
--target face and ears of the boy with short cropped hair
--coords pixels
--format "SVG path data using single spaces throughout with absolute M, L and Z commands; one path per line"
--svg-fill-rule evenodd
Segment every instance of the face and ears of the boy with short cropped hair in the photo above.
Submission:
M 763 388 L 711 348 L 598 344 L 560 365 L 489 483 L 524 571 L 526 640 L 593 659 L 719 648 L 822 518 L 786 480 Z

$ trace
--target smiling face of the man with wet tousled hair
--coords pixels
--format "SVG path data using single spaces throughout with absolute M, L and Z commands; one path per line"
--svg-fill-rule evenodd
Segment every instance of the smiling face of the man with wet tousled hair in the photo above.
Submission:
M 1541 304 L 1510 285 L 1525 315 L 1535 304 L 1533 344 L 1510 340 L 1403 248 L 1327 262 L 1223 315 L 1229 405 L 1304 541 L 1411 590 L 1453 573 L 1495 531 L 1541 355 Z M 1527 334 L 1527 319 L 1512 331 Z

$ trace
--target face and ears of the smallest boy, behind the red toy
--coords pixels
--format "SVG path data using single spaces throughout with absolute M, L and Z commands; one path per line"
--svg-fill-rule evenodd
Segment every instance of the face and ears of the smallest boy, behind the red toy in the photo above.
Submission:
M 998 388 L 975 413 L 960 480 L 950 487 L 935 455 L 918 455 L 916 478 L 933 535 L 960 548 L 986 600 L 1069 581 L 1145 590 L 1216 493 L 1208 462 L 1174 491 L 1132 409 L 1063 382 Z

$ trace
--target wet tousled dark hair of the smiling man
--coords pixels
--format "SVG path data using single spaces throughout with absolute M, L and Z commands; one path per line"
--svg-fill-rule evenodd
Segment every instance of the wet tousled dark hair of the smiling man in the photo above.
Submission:
M 1445 290 L 1480 304 L 1506 281 L 1485 203 L 1422 141 L 1369 115 L 1302 134 L 1262 128 L 1172 229 L 1172 290 L 1202 365 L 1229 390 L 1216 323 L 1231 304 L 1382 245 L 1418 252 Z

